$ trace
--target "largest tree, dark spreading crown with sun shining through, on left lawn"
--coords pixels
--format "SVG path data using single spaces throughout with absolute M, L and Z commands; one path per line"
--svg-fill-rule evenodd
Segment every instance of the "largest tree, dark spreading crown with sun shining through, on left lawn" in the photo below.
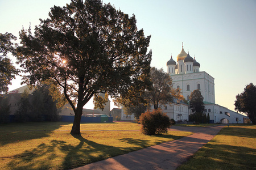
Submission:
M 143 90 L 150 68 L 150 36 L 129 17 L 100 0 L 54 6 L 49 18 L 20 32 L 18 59 L 25 82 L 54 79 L 75 112 L 72 134 L 80 134 L 82 108 L 100 92 L 125 96 Z M 139 86 L 137 86 L 139 85 Z

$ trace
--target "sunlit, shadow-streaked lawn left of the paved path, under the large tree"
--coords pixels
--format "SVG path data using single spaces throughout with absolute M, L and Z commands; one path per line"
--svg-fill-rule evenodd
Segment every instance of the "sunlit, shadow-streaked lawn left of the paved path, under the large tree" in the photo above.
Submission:
M 71 128 L 67 122 L 0 125 L 0 169 L 71 169 L 192 134 L 143 135 L 130 122 L 81 124 L 81 135 Z

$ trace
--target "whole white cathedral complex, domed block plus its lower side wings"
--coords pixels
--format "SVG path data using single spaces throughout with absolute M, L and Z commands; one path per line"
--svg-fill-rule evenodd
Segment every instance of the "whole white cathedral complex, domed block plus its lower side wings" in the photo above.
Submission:
M 172 78 L 174 88 L 180 88 L 181 94 L 189 100 L 191 92 L 199 89 L 204 97 L 205 114 L 209 113 L 210 123 L 236 124 L 245 123 L 248 117 L 243 114 L 230 111 L 215 103 L 214 78 L 205 71 L 200 71 L 200 63 L 186 53 L 183 48 L 174 59 L 167 61 L 167 73 Z M 163 112 L 175 121 L 187 121 L 191 110 L 189 105 L 175 101 L 167 106 L 162 106 Z M 122 112 L 122 120 L 133 120 L 133 116 L 126 116 Z

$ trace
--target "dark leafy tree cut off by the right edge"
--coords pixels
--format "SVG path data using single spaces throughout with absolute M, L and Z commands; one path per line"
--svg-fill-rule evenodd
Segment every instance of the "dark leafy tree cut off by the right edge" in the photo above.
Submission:
M 236 96 L 234 103 L 236 111 L 245 113 L 256 124 L 256 86 L 253 83 L 246 85 L 244 91 Z

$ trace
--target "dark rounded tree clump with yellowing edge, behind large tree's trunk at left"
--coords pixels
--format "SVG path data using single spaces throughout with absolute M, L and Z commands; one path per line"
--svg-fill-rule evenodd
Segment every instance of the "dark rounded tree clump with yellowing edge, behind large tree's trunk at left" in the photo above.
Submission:
M 60 106 L 64 105 L 64 98 L 59 93 L 59 99 L 50 81 L 38 84 L 32 95 L 24 91 L 18 104 L 18 111 L 15 113 L 15 121 L 57 121 L 59 120 Z M 57 88 L 55 87 L 55 90 Z M 51 93 L 52 92 L 52 93 Z M 59 101 L 61 100 L 61 101 Z M 62 104 L 60 104 L 62 103 Z M 60 108 L 59 108 L 60 107 Z

